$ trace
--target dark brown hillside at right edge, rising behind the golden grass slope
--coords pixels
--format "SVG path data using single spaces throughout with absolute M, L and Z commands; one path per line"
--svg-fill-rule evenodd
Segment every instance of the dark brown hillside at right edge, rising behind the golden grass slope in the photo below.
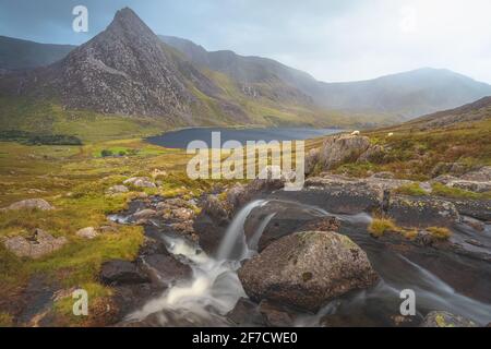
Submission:
M 423 129 L 446 128 L 460 122 L 472 122 L 491 119 L 491 97 L 450 110 L 428 115 L 407 123 Z

